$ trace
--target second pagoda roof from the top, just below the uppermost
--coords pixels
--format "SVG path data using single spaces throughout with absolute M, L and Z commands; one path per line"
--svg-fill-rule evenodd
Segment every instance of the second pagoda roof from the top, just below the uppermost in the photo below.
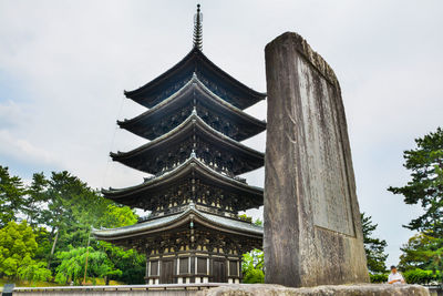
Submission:
M 198 95 L 196 95 L 196 93 L 198 93 Z M 153 127 L 158 125 L 158 122 L 165 114 L 171 114 L 183 108 L 183 105 L 193 104 L 195 99 L 210 106 L 210 109 L 220 116 L 229 118 L 241 126 L 238 135 L 234 137 L 237 141 L 243 141 L 266 130 L 265 121 L 257 120 L 219 98 L 210 91 L 196 74 L 194 74 L 182 89 L 154 108 L 134 119 L 117 121 L 117 123 L 122 129 L 147 140 L 153 140 L 156 137 Z

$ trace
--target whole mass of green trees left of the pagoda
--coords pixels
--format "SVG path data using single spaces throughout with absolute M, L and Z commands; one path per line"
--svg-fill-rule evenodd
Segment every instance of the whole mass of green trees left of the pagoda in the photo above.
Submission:
M 136 222 L 130 207 L 104 198 L 69 172 L 38 173 L 24 185 L 0 166 L 0 277 L 49 280 L 54 274 L 58 283 L 80 284 L 89 253 L 87 277 L 142 284 L 144 255 L 95 241 L 86 249 L 92 227 Z

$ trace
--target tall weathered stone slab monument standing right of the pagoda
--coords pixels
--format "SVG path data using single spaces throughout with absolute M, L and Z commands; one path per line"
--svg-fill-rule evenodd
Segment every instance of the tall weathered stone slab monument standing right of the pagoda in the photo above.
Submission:
M 266 283 L 367 283 L 339 82 L 296 33 L 266 49 Z

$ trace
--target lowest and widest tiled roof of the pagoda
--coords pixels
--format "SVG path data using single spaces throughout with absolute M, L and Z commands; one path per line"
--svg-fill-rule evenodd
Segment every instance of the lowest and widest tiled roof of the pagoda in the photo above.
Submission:
M 223 217 L 205 213 L 189 204 L 187 208 L 178 214 L 163 216 L 155 220 L 137 223 L 131 226 L 106 229 L 93 229 L 92 234 L 102 241 L 117 241 L 134 238 L 137 236 L 156 235 L 157 233 L 182 227 L 190 221 L 203 224 L 206 227 L 217 232 L 245 235 L 249 237 L 261 238 L 264 228 L 255 224 L 239 220 Z

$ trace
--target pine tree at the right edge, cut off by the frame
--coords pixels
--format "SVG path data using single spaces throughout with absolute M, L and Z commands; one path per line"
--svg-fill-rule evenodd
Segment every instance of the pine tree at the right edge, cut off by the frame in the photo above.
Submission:
M 423 214 L 404 227 L 418 231 L 401 248 L 400 265 L 443 271 L 443 129 L 415 140 L 416 147 L 404 151 L 404 167 L 411 171 L 411 181 L 402 187 L 389 187 L 403 195 L 406 204 L 419 204 Z

